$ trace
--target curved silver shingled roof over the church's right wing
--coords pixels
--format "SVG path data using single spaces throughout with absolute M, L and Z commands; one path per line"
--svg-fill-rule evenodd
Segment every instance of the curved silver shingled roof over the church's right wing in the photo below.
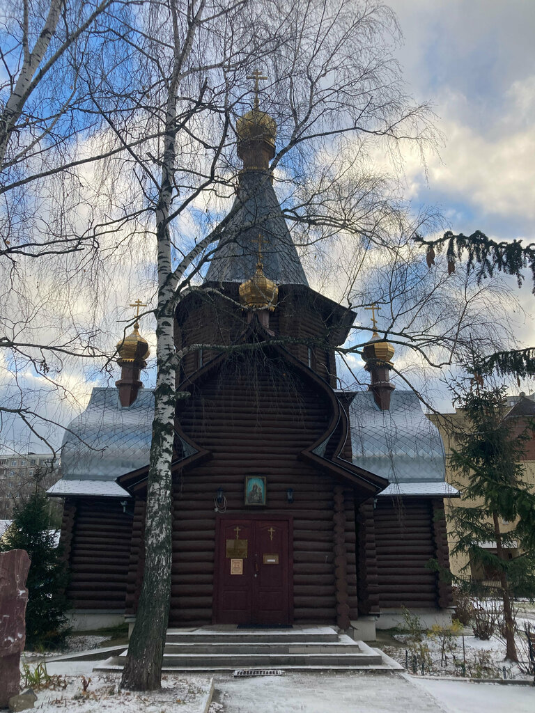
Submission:
M 379 409 L 371 391 L 350 404 L 353 463 L 390 483 L 442 483 L 444 444 L 414 391 L 392 391 L 390 408 Z

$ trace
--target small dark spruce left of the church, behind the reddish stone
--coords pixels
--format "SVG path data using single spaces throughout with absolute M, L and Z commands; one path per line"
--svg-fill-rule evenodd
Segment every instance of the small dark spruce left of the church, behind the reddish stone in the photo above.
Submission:
M 50 529 L 46 494 L 36 487 L 29 499 L 16 506 L 13 523 L 0 541 L 0 551 L 26 550 L 31 560 L 26 587 L 26 648 L 56 649 L 68 634 L 63 590 L 66 569 Z

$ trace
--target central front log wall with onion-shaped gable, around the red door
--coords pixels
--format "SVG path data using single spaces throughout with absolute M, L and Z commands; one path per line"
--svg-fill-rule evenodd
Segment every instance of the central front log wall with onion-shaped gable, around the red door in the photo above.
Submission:
M 293 520 L 294 621 L 332 622 L 337 605 L 356 609 L 355 518 L 352 492 L 338 493 L 335 533 L 332 478 L 300 461 L 299 453 L 325 431 L 330 406 L 317 387 L 287 362 L 234 356 L 219 374 L 195 389 L 178 414 L 180 426 L 212 458 L 175 478 L 173 572 L 170 625 L 212 620 L 214 586 L 214 498 L 219 487 L 227 513 L 260 513 L 243 506 L 246 475 L 267 476 L 269 515 Z M 287 503 L 287 488 L 294 502 Z M 335 538 L 336 535 L 336 538 Z M 347 537 L 347 588 L 336 587 L 335 545 Z M 340 579 L 340 577 L 338 577 Z M 337 599 L 338 591 L 338 599 Z M 344 602 L 340 598 L 347 597 Z M 343 598 L 342 597 L 342 598 Z

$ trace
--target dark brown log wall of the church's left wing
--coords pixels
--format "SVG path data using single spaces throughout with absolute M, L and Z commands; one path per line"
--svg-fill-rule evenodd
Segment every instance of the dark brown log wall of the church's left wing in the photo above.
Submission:
M 76 502 L 66 590 L 74 609 L 124 610 L 131 534 L 132 517 L 117 500 Z

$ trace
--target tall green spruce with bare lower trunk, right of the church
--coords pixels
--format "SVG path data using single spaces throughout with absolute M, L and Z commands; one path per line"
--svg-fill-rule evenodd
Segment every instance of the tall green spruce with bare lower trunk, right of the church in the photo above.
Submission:
M 466 553 L 470 562 L 496 573 L 504 607 L 506 658 L 518 660 L 514 642 L 514 593 L 535 591 L 535 493 L 524 481 L 521 458 L 526 439 L 524 431 L 514 434 L 506 418 L 506 387 L 485 388 L 476 381 L 456 405 L 464 411 L 467 429 L 456 434 L 451 465 L 463 476 L 463 506 L 453 508 L 455 545 L 452 554 Z M 514 523 L 506 532 L 503 520 Z M 487 547 L 484 544 L 487 543 Z M 488 543 L 496 543 L 491 551 Z M 509 559 L 509 548 L 523 554 Z

